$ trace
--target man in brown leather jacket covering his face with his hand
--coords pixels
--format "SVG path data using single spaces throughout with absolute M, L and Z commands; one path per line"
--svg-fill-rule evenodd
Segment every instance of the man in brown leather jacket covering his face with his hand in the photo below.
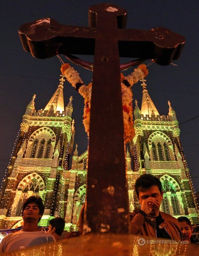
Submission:
M 135 183 L 141 209 L 130 214 L 131 233 L 182 241 L 178 221 L 159 211 L 162 201 L 162 184 L 151 174 L 141 175 Z

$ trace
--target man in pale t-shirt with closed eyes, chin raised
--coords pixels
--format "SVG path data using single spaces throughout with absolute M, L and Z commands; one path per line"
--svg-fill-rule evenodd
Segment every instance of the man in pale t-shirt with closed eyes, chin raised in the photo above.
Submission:
M 32 246 L 55 242 L 53 235 L 38 226 L 44 214 L 41 197 L 31 196 L 22 206 L 23 229 L 5 236 L 0 243 L 0 253 L 18 251 Z

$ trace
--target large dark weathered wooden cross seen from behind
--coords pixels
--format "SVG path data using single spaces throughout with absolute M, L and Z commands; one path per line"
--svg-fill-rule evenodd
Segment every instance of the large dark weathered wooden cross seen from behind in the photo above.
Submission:
M 20 27 L 26 51 L 36 58 L 94 55 L 85 232 L 129 232 L 119 57 L 176 60 L 184 37 L 165 28 L 125 29 L 127 12 L 112 4 L 89 8 L 89 27 L 43 18 Z

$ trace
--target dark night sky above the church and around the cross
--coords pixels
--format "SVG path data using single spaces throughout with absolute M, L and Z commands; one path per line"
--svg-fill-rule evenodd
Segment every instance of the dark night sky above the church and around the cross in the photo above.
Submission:
M 0 180 L 2 180 L 10 154 L 13 149 L 22 115 L 27 104 L 36 94 L 35 107 L 46 106 L 59 84 L 60 62 L 55 56 L 40 60 L 23 50 L 18 35 L 19 27 L 40 18 L 49 17 L 60 24 L 88 26 L 88 8 L 102 1 L 1 1 L 1 40 L 0 40 Z M 166 27 L 186 38 L 179 60 L 175 65 L 149 66 L 147 87 L 160 115 L 168 114 L 167 101 L 176 111 L 177 119 L 183 123 L 198 116 L 198 41 L 199 19 L 198 1 L 173 0 L 112 0 L 111 3 L 128 11 L 127 28 L 149 30 L 153 27 Z M 64 62 L 68 62 L 61 56 Z M 80 57 L 80 56 L 79 56 Z M 92 56 L 81 56 L 92 61 Z M 127 62 L 131 59 L 121 59 Z M 146 61 L 145 64 L 148 64 Z M 71 64 L 71 63 L 70 63 Z M 92 72 L 75 66 L 85 84 L 92 79 Z M 125 74 L 131 73 L 133 68 Z M 141 108 L 142 87 L 138 83 L 133 87 L 134 100 L 138 100 Z M 75 119 L 75 144 L 78 144 L 79 155 L 87 149 L 87 135 L 82 124 L 83 98 L 72 86 L 64 83 L 64 105 L 73 96 L 73 114 Z M 180 125 L 180 139 L 190 169 L 194 188 L 199 191 L 199 118 Z M 111 161 L 111 159 L 110 159 Z

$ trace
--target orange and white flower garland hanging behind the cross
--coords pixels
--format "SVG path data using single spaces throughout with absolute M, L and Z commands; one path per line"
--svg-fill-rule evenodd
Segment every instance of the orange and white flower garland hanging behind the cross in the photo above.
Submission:
M 83 114 L 83 124 L 85 131 L 89 136 L 89 123 L 90 123 L 90 101 L 91 101 L 91 90 L 92 83 L 87 86 L 83 84 L 79 74 L 74 68 L 72 68 L 68 63 L 61 66 L 61 73 L 66 77 L 67 81 L 71 83 L 73 87 L 78 89 L 78 92 L 84 98 L 84 114 Z M 134 72 L 132 72 L 127 77 L 121 73 L 121 89 L 122 89 L 122 107 L 123 107 L 123 119 L 124 119 L 124 138 L 125 143 L 130 142 L 134 136 L 135 131 L 133 128 L 133 93 L 131 87 L 137 83 L 140 79 L 143 79 L 148 75 L 149 71 L 145 64 L 139 65 Z

